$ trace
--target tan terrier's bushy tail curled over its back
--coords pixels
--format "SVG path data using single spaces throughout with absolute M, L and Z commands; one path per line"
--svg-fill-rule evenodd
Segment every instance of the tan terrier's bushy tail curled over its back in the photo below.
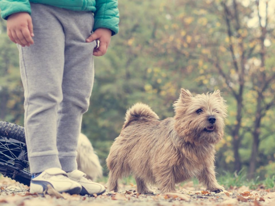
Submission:
M 127 127 L 130 122 L 142 119 L 158 120 L 159 117 L 147 104 L 136 103 L 127 110 L 123 128 Z

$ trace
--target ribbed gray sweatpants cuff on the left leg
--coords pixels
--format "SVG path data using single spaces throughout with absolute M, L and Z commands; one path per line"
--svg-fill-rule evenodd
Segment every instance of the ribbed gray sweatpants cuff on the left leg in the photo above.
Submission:
M 32 174 L 43 172 L 46 169 L 57 167 L 61 169 L 58 155 L 29 157 L 30 171 Z

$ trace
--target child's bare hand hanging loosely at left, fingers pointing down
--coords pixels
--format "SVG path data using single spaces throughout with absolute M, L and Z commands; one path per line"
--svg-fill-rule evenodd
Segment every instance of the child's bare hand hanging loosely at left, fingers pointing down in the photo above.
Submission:
M 22 47 L 33 44 L 34 33 L 30 14 L 18 12 L 10 15 L 7 19 L 7 33 L 11 41 Z

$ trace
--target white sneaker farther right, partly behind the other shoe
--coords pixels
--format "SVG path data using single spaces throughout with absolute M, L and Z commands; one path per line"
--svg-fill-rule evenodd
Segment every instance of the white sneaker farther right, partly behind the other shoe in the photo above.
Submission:
M 92 182 L 91 180 L 87 179 L 86 174 L 79 170 L 68 172 L 67 175 L 68 178 L 78 182 L 82 186 L 82 190 L 79 193 L 80 195 L 101 195 L 106 191 L 103 185 Z

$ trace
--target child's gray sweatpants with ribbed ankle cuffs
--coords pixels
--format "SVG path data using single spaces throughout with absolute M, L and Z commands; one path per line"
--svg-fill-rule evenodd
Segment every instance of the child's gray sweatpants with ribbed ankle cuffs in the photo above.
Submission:
M 82 114 L 88 110 L 94 67 L 92 12 L 31 4 L 34 44 L 18 45 L 24 87 L 25 134 L 31 173 L 77 169 Z

